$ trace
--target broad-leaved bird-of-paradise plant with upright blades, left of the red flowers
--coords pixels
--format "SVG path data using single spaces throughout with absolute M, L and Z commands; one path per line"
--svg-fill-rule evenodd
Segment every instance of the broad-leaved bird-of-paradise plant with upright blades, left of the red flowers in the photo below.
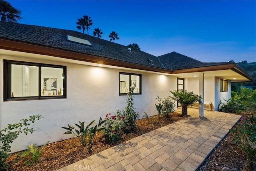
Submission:
M 78 127 L 78 130 L 76 130 L 76 128 L 70 124 L 68 124 L 68 128 L 67 127 L 61 127 L 61 128 L 68 130 L 64 134 L 73 134 L 74 136 L 76 136 L 78 138 L 78 140 L 80 141 L 80 143 L 83 146 L 86 146 L 87 141 L 88 141 L 88 145 L 92 144 L 92 139 L 94 138 L 94 135 L 96 134 L 97 131 L 104 130 L 104 128 L 99 128 L 99 127 L 102 124 L 104 124 L 104 122 L 106 122 L 106 120 L 102 120 L 102 118 L 100 117 L 98 125 L 93 127 L 93 125 L 95 123 L 95 120 L 93 120 L 85 128 L 84 128 L 84 122 L 80 122 L 80 121 L 78 121 L 78 122 L 79 122 L 79 125 L 75 124 Z M 88 136 L 88 140 L 87 140 L 87 136 Z

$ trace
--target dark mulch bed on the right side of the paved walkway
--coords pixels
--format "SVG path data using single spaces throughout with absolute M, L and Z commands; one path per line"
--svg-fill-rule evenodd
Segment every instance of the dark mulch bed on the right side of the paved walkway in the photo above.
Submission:
M 248 119 L 250 114 L 243 114 L 242 116 Z M 240 119 L 234 128 L 238 128 L 238 124 L 242 123 L 244 123 L 244 119 Z M 246 155 L 234 143 L 234 134 L 229 133 L 214 151 L 212 151 L 198 170 L 256 171 L 256 165 L 248 165 Z

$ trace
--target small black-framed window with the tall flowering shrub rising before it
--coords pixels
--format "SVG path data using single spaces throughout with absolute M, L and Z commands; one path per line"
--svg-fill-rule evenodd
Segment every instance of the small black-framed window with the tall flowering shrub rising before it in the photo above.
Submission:
M 141 94 L 141 75 L 119 73 L 119 95 L 126 95 L 130 87 L 134 86 L 134 94 Z

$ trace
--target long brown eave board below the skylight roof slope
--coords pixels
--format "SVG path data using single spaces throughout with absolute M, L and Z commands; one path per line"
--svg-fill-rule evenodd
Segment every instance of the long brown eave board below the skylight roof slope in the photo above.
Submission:
M 21 41 L 15 41 L 6 38 L 0 38 L 0 49 L 12 50 L 12 51 L 20 51 L 20 52 L 27 52 L 27 53 L 35 53 L 40 55 L 49 55 L 54 57 L 61 57 L 65 59 L 73 59 L 78 61 L 85 61 L 91 63 L 99 63 L 105 65 L 112 65 L 116 67 L 125 67 L 130 69 L 140 69 L 144 71 L 153 71 L 153 72 L 160 72 L 171 74 L 171 71 L 168 69 L 162 69 L 157 67 L 151 67 L 136 63 L 129 63 L 125 61 L 118 61 L 115 59 L 109 59 L 107 57 L 100 57 L 95 55 L 89 55 L 84 53 L 78 53 L 74 51 L 68 51 L 64 49 L 57 49 L 54 47 L 36 45 L 32 43 L 26 43 Z

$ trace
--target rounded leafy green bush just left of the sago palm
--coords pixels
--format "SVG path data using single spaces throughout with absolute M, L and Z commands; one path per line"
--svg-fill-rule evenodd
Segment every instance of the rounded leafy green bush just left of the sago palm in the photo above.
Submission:
M 157 96 L 156 99 L 158 99 L 158 101 L 163 104 L 162 114 L 164 117 L 168 118 L 169 114 L 174 112 L 174 107 L 176 106 L 174 101 L 170 97 L 164 98 L 164 100 L 162 100 L 161 97 Z

